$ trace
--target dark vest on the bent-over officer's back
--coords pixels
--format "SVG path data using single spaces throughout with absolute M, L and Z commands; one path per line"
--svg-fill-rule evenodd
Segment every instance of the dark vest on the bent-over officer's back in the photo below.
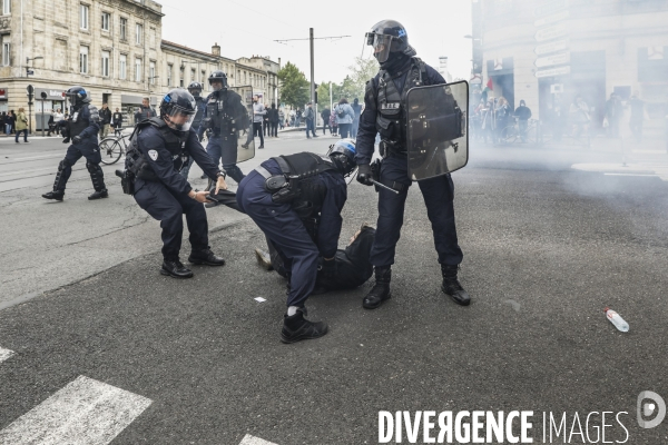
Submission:
M 327 189 L 318 182 L 317 176 L 324 171 L 338 171 L 327 157 L 312 152 L 278 156 L 274 159 L 284 175 L 296 182 L 296 198 L 292 201 L 293 209 L 299 218 L 316 217 L 323 208 Z M 291 187 L 293 182 L 291 181 Z

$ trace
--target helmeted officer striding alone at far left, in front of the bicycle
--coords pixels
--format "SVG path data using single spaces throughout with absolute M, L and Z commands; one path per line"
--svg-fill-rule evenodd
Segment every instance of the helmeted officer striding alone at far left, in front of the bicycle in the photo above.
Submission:
M 63 144 L 71 140 L 67 148 L 65 159 L 58 165 L 53 191 L 42 195 L 42 198 L 61 201 L 65 196 L 65 186 L 72 174 L 72 166 L 81 158 L 86 158 L 86 168 L 90 174 L 90 180 L 95 192 L 88 199 L 107 198 L 105 175 L 100 168 L 102 158 L 98 146 L 98 132 L 100 130 L 100 117 L 98 109 L 90 105 L 90 98 L 82 87 L 75 86 L 66 91 L 66 99 L 70 106 L 69 118 L 61 120 L 58 125 L 63 129 Z

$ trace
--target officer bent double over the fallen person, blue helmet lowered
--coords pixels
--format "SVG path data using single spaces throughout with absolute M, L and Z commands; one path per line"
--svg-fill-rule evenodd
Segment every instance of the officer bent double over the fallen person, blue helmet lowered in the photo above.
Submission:
M 327 333 L 325 323 L 304 318 L 304 303 L 316 283 L 318 257 L 323 257 L 325 278 L 336 276 L 341 210 L 347 197 L 344 177 L 355 169 L 354 156 L 354 142 L 342 139 L 330 156 L 299 152 L 269 158 L 239 184 L 239 208 L 284 260 L 289 291 L 281 332 L 283 343 Z M 313 224 L 306 227 L 310 220 Z M 317 229 L 312 230 L 314 227 Z

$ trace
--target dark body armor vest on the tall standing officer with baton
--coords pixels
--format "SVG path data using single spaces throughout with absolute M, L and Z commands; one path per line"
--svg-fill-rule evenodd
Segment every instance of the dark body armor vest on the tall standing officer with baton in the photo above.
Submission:
M 379 72 L 375 126 L 389 147 L 405 151 L 406 92 L 413 87 L 422 86 L 423 72 L 425 72 L 424 62 L 414 57 L 401 92 L 396 89 L 396 85 L 387 71 Z

